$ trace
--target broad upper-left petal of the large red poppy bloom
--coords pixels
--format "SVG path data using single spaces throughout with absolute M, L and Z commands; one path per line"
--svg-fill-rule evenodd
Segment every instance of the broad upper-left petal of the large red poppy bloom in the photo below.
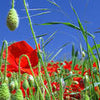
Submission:
M 8 57 L 7 61 L 15 65 L 16 64 L 16 59 L 19 58 L 22 54 L 27 54 L 33 51 L 33 48 L 27 44 L 25 41 L 19 41 L 16 43 L 11 44 L 8 47 Z M 3 52 L 3 58 L 6 56 L 6 50 Z

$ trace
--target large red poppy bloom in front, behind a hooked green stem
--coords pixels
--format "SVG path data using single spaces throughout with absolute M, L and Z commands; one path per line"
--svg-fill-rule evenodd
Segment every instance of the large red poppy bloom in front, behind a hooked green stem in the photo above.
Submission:
M 7 71 L 15 71 L 15 72 L 18 71 L 19 58 L 23 54 L 25 54 L 29 57 L 32 67 L 34 67 L 38 64 L 37 49 L 34 50 L 25 41 L 19 41 L 19 42 L 13 43 L 12 45 L 10 45 L 8 47 L 7 61 L 9 63 L 9 65 L 7 66 Z M 4 59 L 5 59 L 5 56 L 6 56 L 6 50 L 4 50 L 4 52 L 3 52 Z M 29 67 L 27 58 L 22 57 L 21 62 L 20 62 L 21 72 L 27 72 L 27 70 L 24 71 L 25 68 L 27 69 L 30 67 Z

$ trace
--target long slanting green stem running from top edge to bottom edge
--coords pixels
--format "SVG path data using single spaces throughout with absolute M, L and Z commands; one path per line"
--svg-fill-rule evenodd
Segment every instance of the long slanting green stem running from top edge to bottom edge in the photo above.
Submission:
M 47 72 L 47 69 L 44 66 L 44 62 L 43 62 L 43 59 L 42 59 L 42 56 L 41 56 L 41 53 L 40 53 L 40 50 L 39 50 L 39 47 L 38 47 L 38 43 L 37 43 L 37 40 L 36 40 L 36 35 L 35 35 L 35 32 L 34 32 L 33 27 L 32 27 L 31 18 L 29 16 L 29 13 L 28 13 L 28 10 L 27 10 L 26 2 L 25 2 L 25 0 L 23 0 L 23 2 L 24 2 L 24 6 L 25 6 L 25 10 L 26 10 L 28 19 L 29 19 L 30 28 L 31 28 L 31 31 L 32 31 L 32 34 L 33 34 L 33 38 L 34 38 L 34 41 L 35 41 L 35 44 L 36 44 L 36 47 L 37 47 L 37 50 L 38 50 L 38 54 L 39 54 L 39 57 L 40 57 L 40 60 L 41 60 L 41 64 L 43 65 L 43 68 L 44 68 L 44 71 L 45 71 L 45 75 L 46 75 L 46 79 L 47 79 L 47 82 L 48 82 L 49 91 L 52 94 L 53 100 L 55 100 L 54 94 L 52 92 L 51 83 L 50 83 L 51 79 L 49 77 L 49 74 Z

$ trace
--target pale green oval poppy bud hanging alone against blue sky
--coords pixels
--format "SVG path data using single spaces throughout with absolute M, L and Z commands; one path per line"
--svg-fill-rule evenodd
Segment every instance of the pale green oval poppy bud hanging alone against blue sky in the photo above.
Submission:
M 7 16 L 7 26 L 14 31 L 19 25 L 19 17 L 15 8 L 11 8 Z

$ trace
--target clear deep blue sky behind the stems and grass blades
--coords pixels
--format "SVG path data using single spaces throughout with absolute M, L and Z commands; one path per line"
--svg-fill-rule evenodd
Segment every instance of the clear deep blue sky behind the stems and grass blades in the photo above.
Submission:
M 54 0 L 51 0 L 54 1 Z M 100 27 L 100 0 L 71 0 L 72 5 L 75 8 L 76 12 L 79 15 L 79 18 L 84 25 L 84 28 L 87 29 L 90 33 L 95 35 L 96 42 L 100 43 L 100 33 L 94 33 L 99 31 Z M 13 41 L 27 41 L 33 48 L 35 48 L 34 40 L 31 38 L 32 33 L 27 19 L 26 12 L 24 10 L 23 0 L 15 0 L 15 9 L 19 15 L 19 27 L 15 31 L 10 31 L 6 26 L 7 14 L 11 8 L 12 0 L 0 0 L 0 47 L 2 46 L 3 40 L 8 42 Z M 37 8 L 48 8 L 48 11 L 35 11 L 30 10 L 29 13 L 31 16 L 32 23 L 46 23 L 46 22 L 70 22 L 78 25 L 76 16 L 74 15 L 69 0 L 55 0 L 55 2 L 61 7 L 61 9 L 49 3 L 47 0 L 26 0 L 28 8 L 37 9 Z M 34 16 L 38 13 L 49 12 L 47 14 Z M 87 23 L 86 23 L 87 22 Z M 46 46 L 47 52 L 54 51 L 54 54 L 57 52 L 56 49 L 61 47 L 64 43 L 73 42 L 75 44 L 75 49 L 79 49 L 80 42 L 85 48 L 86 44 L 84 39 L 79 31 L 76 31 L 72 28 L 69 28 L 64 25 L 52 25 L 52 26 L 37 26 L 33 25 L 36 35 L 41 35 L 48 33 L 44 37 L 46 40 L 53 32 L 57 31 L 54 35 L 54 39 Z M 31 38 L 31 39 L 30 39 Z M 92 46 L 93 42 L 89 38 L 89 43 Z M 58 55 L 57 59 L 65 57 L 69 58 L 71 55 L 72 45 L 66 46 L 63 51 Z

